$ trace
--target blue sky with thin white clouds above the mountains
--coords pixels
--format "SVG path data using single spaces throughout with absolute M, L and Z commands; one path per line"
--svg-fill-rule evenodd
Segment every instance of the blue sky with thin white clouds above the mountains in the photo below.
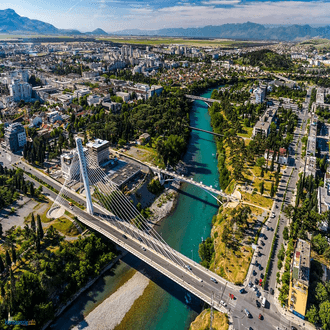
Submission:
M 225 23 L 330 24 L 330 0 L 1 0 L 0 9 L 81 32 Z

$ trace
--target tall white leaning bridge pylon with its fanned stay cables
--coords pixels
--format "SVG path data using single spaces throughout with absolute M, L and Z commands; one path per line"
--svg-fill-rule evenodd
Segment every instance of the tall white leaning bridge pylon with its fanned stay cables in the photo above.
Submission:
M 107 222 L 113 230 L 138 240 L 142 247 L 152 249 L 154 253 L 193 274 L 177 251 L 164 241 L 152 224 L 108 178 L 98 164 L 97 155 L 84 148 L 81 139 L 77 138 L 76 144 L 69 173 L 50 213 L 58 207 L 67 208 L 68 202 L 72 200 L 86 204 L 85 211 L 94 220 Z M 70 212 L 74 213 L 74 207 L 71 208 L 73 211 Z

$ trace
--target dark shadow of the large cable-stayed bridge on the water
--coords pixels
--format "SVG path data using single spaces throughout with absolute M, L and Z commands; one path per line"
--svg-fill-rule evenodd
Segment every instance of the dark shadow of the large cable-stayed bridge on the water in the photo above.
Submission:
M 181 301 L 190 310 L 196 313 L 200 313 L 202 311 L 203 302 L 198 297 L 196 297 L 190 292 L 188 296 L 186 289 L 184 289 L 179 284 L 172 281 L 165 275 L 161 274 L 156 269 L 146 264 L 144 261 L 140 260 L 139 258 L 135 257 L 130 253 L 127 253 L 121 260 L 128 266 L 147 276 L 157 286 L 169 293 L 174 298 Z M 191 301 L 188 304 L 186 302 L 187 298 L 189 300 L 191 298 Z

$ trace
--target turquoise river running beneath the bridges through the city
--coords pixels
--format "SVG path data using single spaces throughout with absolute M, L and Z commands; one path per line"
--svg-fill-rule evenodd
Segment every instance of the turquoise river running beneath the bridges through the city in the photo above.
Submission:
M 201 96 L 210 97 L 212 89 Z M 191 126 L 211 131 L 207 105 L 195 101 L 190 113 Z M 195 181 L 219 187 L 216 145 L 214 137 L 204 132 L 192 131 L 185 163 Z M 165 241 L 174 249 L 199 262 L 198 245 L 211 231 L 212 217 L 217 213 L 216 200 L 202 189 L 183 184 L 172 214 L 156 227 Z M 55 329 L 70 329 L 103 300 L 109 297 L 134 273 L 143 270 L 152 282 L 139 298 L 139 304 L 116 328 L 125 330 L 186 330 L 199 314 L 202 304 L 193 298 L 187 306 L 186 292 L 164 276 L 131 255 L 126 255 L 112 270 L 106 272 L 88 291 L 82 294 L 55 323 Z

